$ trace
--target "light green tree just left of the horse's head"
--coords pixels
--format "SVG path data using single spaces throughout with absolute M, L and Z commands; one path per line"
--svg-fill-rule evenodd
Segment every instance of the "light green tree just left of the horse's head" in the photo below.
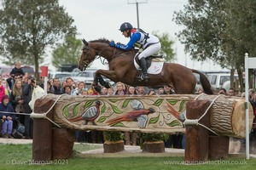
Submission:
M 81 54 L 82 41 L 75 37 L 66 37 L 66 41 L 59 45 L 52 53 L 52 64 L 60 67 L 63 64 L 77 65 Z

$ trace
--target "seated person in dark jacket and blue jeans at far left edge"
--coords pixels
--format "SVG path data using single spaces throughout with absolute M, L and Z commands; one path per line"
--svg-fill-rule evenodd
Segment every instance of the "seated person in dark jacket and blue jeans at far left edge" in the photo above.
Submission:
M 2 137 L 13 139 L 11 133 L 13 131 L 13 121 L 15 119 L 15 112 L 13 106 L 9 104 L 9 96 L 3 95 L 2 103 L 0 104 L 0 119 L 2 120 Z

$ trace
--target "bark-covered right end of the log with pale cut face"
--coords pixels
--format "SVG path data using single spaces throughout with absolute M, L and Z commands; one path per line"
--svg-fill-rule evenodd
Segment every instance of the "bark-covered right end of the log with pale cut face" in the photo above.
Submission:
M 217 96 L 202 95 L 198 99 L 215 99 Z M 249 105 L 249 127 L 253 126 L 253 107 Z M 218 135 L 245 138 L 245 100 L 221 95 L 211 108 L 210 128 Z

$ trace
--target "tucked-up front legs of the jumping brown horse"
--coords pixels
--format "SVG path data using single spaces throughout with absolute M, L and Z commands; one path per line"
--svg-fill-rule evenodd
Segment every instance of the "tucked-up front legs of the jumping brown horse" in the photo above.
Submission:
M 105 82 L 102 76 L 109 78 L 113 82 L 115 82 L 116 75 L 115 71 L 106 71 L 106 70 L 97 70 L 94 78 L 94 83 L 97 84 L 100 82 L 102 86 L 105 88 L 110 88 L 110 85 L 108 82 Z

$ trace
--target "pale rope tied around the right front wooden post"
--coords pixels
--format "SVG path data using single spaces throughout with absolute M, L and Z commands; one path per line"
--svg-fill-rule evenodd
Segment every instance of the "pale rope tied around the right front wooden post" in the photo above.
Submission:
M 205 95 L 205 94 L 198 95 L 194 100 L 198 99 L 202 95 Z M 199 121 L 201 120 L 201 118 L 203 116 L 206 116 L 207 111 L 209 111 L 209 109 L 212 107 L 215 100 L 219 98 L 219 96 L 221 96 L 221 95 L 218 95 L 216 98 L 212 99 L 212 103 L 207 107 L 207 110 L 204 112 L 204 114 L 201 117 L 199 117 L 199 119 L 188 119 L 187 116 L 185 116 L 185 121 L 183 122 L 183 125 L 184 126 L 186 126 L 186 125 L 195 125 L 195 126 L 205 127 L 205 128 L 207 128 L 207 130 L 211 131 L 212 133 L 214 133 L 218 136 L 218 133 L 215 133 L 211 128 L 206 127 L 205 125 L 201 124 Z

